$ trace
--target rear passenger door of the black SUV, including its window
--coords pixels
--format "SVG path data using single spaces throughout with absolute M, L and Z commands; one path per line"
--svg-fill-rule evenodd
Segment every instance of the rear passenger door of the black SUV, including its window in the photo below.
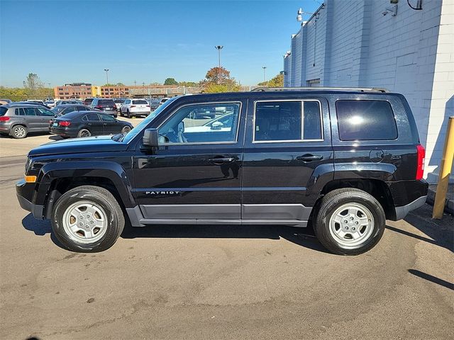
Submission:
M 325 98 L 276 96 L 248 104 L 242 218 L 306 225 L 319 175 L 333 170 Z M 332 179 L 331 172 L 330 179 Z M 292 222 L 293 221 L 293 222 Z

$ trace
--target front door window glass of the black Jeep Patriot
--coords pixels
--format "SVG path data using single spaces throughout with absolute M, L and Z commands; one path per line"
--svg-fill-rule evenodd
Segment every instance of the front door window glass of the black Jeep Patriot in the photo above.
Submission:
M 160 144 L 236 142 L 240 110 L 240 103 L 211 103 L 179 108 L 159 128 Z M 230 119 L 217 119 L 227 114 Z

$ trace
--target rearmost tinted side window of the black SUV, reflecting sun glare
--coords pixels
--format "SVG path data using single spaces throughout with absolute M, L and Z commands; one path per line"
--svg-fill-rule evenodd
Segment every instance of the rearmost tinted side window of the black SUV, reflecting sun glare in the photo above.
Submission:
M 341 140 L 395 140 L 397 126 L 387 101 L 336 101 Z

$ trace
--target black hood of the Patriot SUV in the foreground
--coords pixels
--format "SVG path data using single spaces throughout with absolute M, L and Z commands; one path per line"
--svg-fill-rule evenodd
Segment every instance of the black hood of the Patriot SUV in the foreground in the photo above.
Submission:
M 96 136 L 58 140 L 35 147 L 28 156 L 45 154 L 78 154 L 84 152 L 120 152 L 128 149 L 128 144 L 112 140 L 112 136 Z

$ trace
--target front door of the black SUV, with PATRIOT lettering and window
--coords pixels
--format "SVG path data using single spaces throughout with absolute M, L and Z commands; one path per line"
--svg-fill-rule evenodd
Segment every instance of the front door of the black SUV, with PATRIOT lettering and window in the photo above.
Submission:
M 194 112 L 218 108 L 214 119 Z M 178 108 L 158 132 L 160 147 L 134 158 L 135 196 L 156 222 L 240 223 L 245 102 Z M 218 118 L 221 122 L 214 122 Z

